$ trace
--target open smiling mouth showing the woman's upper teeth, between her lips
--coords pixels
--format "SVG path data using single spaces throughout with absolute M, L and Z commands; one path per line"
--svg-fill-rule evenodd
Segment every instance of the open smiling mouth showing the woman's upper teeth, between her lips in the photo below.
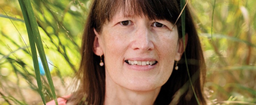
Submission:
M 147 66 L 147 65 L 155 65 L 157 61 L 137 61 L 137 60 L 125 60 L 125 63 L 128 65 L 140 65 L 140 66 Z

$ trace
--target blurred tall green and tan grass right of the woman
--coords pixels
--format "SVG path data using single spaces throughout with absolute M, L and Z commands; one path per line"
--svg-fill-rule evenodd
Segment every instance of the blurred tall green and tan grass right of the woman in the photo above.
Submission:
M 252 4 L 256 2 L 199 0 L 191 3 L 206 55 L 206 87 L 213 92 L 210 99 L 221 104 L 256 103 L 256 43 L 252 41 L 256 38 L 256 9 Z

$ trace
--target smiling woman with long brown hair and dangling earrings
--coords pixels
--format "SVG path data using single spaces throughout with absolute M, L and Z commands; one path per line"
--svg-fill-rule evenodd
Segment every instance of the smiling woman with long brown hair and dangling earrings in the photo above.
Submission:
M 91 3 L 76 75 L 78 90 L 64 103 L 206 104 L 203 52 L 188 7 L 183 37 L 180 0 Z

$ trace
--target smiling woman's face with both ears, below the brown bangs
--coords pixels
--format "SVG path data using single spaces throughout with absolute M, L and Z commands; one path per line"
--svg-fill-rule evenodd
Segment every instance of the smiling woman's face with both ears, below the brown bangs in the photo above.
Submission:
M 177 27 L 166 20 L 117 12 L 101 32 L 94 33 L 94 53 L 104 55 L 106 84 L 130 90 L 159 89 L 183 53 Z

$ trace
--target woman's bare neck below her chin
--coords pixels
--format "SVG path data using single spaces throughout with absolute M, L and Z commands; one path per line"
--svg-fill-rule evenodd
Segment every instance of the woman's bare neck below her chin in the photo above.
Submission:
M 104 105 L 153 105 L 161 89 L 135 91 L 107 81 Z

